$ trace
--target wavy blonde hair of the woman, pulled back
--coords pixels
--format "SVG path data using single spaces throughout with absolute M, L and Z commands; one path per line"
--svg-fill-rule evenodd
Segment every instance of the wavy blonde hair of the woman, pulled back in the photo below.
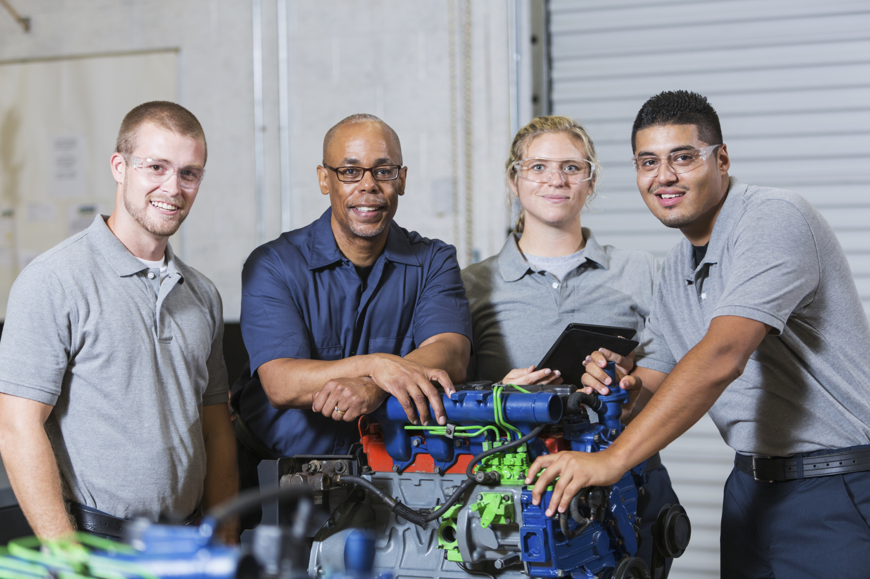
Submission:
M 583 150 L 586 151 L 586 160 L 594 165 L 595 169 L 592 177 L 592 192 L 586 197 L 586 204 L 588 204 L 597 194 L 599 176 L 601 175 L 601 165 L 599 164 L 598 156 L 595 155 L 595 145 L 592 144 L 592 139 L 589 138 L 583 125 L 569 116 L 538 116 L 533 118 L 532 121 L 525 125 L 525 127 L 517 131 L 517 135 L 513 137 L 513 143 L 511 143 L 511 155 L 505 163 L 505 180 L 508 184 L 508 203 L 512 204 L 513 199 L 516 196 L 510 187 L 510 183 L 513 183 L 515 188 L 519 188 L 519 174 L 514 167 L 514 163 L 525 158 L 525 151 L 528 149 L 529 143 L 532 143 L 532 140 L 536 137 L 559 133 L 572 137 L 582 145 Z M 517 223 L 514 224 L 513 230 L 517 233 L 522 233 L 524 224 L 525 210 L 520 209 Z

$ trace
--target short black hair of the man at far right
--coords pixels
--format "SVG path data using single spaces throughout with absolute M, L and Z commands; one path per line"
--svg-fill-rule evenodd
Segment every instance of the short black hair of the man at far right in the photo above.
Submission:
M 708 145 L 722 143 L 719 115 L 706 97 L 688 90 L 665 90 L 652 97 L 638 111 L 632 126 L 632 151 L 637 150 L 639 130 L 666 124 L 693 124 L 698 138 Z

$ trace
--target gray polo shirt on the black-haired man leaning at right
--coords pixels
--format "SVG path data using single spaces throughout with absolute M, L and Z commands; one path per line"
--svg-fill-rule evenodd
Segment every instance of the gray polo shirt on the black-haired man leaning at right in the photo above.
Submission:
M 772 327 L 710 409 L 731 448 L 870 443 L 870 326 L 840 242 L 806 199 L 732 177 L 702 263 L 684 239 L 662 264 L 638 365 L 670 372 L 716 316 Z M 693 384 L 680 387 L 692 396 Z

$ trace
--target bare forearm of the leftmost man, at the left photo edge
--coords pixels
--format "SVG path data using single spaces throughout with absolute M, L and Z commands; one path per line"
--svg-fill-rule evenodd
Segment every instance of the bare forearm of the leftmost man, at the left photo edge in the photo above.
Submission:
M 60 474 L 51 443 L 45 434 L 44 416 L 28 412 L 35 403 L 17 396 L 0 394 L 0 454 L 30 529 L 43 538 L 57 538 L 73 532 L 64 507 Z M 22 407 L 27 408 L 22 411 Z M 43 410 L 45 410 L 43 409 Z

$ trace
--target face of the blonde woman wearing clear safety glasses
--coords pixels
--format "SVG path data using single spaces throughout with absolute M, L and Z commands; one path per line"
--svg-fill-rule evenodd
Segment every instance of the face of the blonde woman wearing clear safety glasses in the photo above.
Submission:
M 545 133 L 532 139 L 523 157 L 585 159 L 586 151 L 581 143 L 566 133 Z M 579 220 L 580 211 L 592 192 L 593 183 L 593 180 L 566 183 L 561 173 L 554 171 L 547 183 L 526 181 L 518 175 L 510 184 L 525 210 L 526 226 L 531 222 L 538 222 L 559 227 Z

